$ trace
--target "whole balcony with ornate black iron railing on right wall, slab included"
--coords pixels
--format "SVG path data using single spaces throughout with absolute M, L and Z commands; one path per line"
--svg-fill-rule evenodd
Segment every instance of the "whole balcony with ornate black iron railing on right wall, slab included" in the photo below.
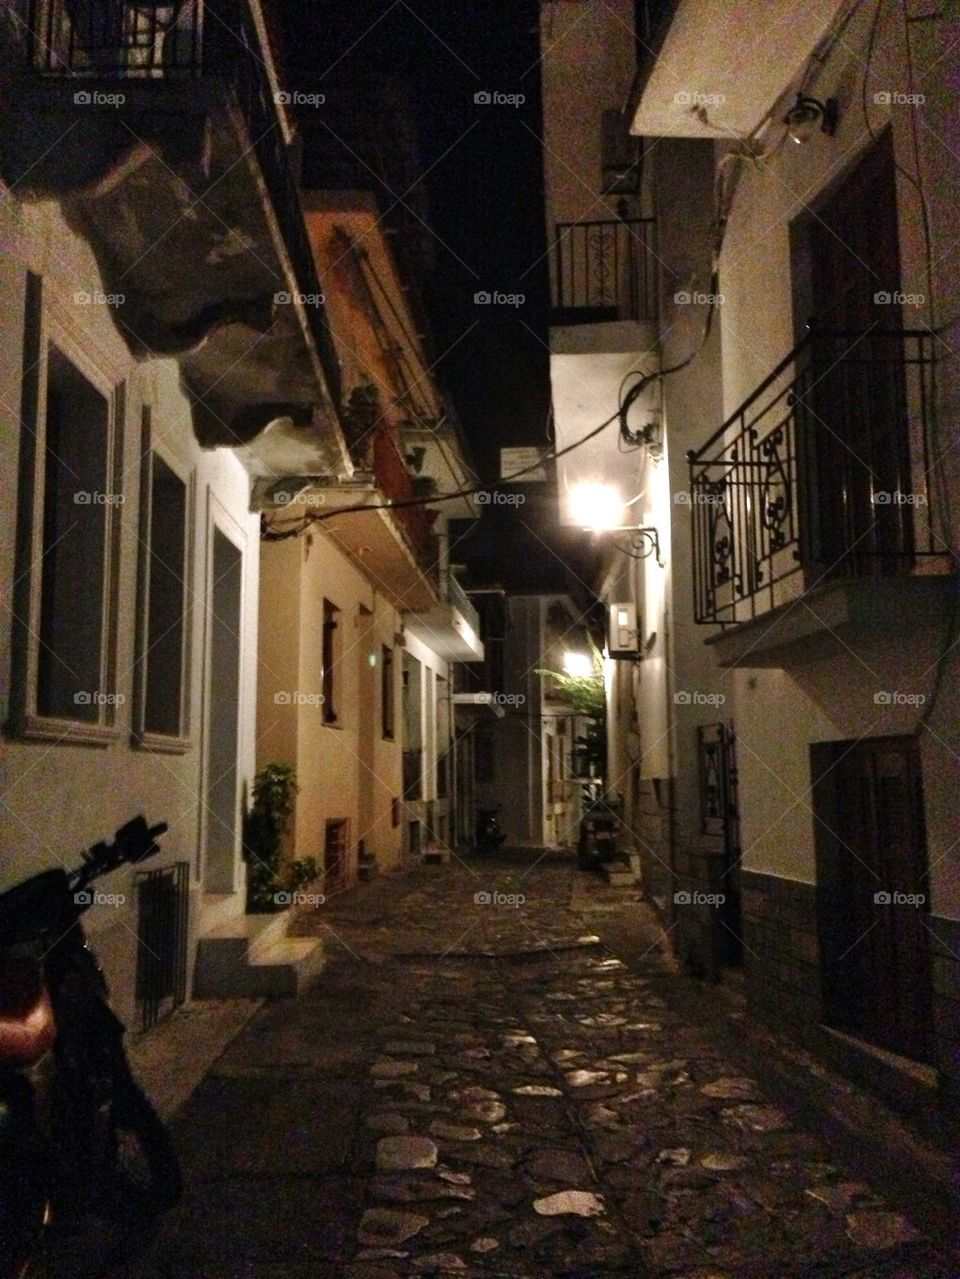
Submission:
M 934 341 L 813 331 L 688 454 L 694 616 L 722 628 L 721 665 L 816 660 L 941 615 Z

